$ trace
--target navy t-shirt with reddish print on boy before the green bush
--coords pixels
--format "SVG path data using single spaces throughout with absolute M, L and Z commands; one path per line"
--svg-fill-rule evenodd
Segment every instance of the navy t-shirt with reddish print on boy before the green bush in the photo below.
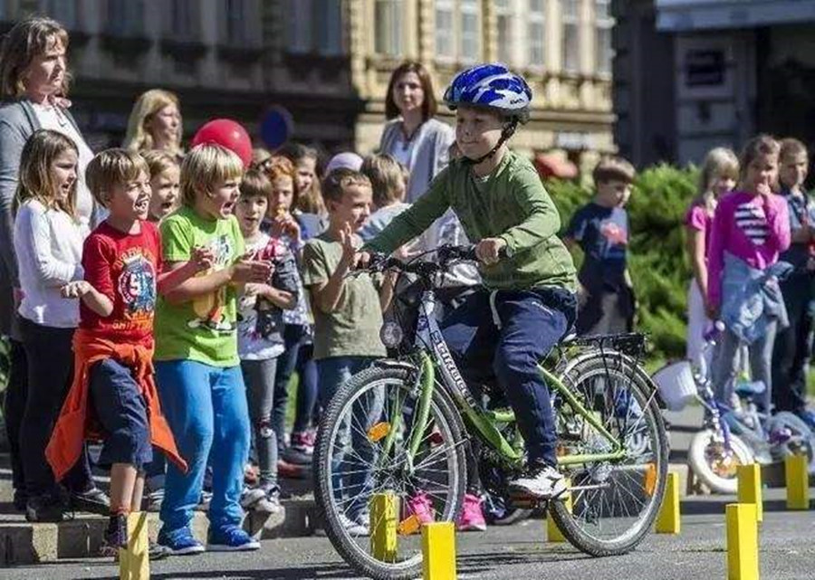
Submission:
M 618 290 L 625 284 L 628 214 L 620 207 L 594 202 L 571 218 L 566 237 L 580 244 L 585 258 L 578 280 L 591 293 Z

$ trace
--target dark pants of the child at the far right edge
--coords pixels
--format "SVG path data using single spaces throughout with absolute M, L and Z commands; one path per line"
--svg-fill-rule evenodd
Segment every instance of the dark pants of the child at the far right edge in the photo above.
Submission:
M 812 278 L 796 273 L 781 281 L 790 326 L 780 329 L 772 349 L 772 404 L 776 411 L 806 409 L 807 363 L 811 345 Z

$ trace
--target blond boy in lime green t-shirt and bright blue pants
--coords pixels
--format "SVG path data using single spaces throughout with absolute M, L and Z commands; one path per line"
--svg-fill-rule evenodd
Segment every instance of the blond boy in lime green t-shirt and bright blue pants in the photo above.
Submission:
M 217 145 L 192 149 L 181 166 L 182 206 L 161 222 L 164 263 L 182 266 L 194 248 L 209 249 L 213 267 L 158 298 L 155 366 L 158 395 L 187 460 L 186 474 L 168 466 L 158 543 L 173 554 L 203 552 L 189 528 L 213 467 L 207 549 L 257 549 L 240 528 L 249 411 L 237 353 L 235 285 L 268 280 L 271 264 L 244 257 L 232 214 L 244 174 L 241 159 Z

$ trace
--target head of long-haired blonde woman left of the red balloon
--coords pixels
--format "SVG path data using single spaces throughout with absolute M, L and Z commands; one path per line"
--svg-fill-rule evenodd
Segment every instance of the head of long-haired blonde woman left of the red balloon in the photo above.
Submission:
M 181 133 L 177 96 L 168 90 L 152 89 L 142 93 L 133 105 L 123 147 L 139 152 L 161 149 L 182 157 Z

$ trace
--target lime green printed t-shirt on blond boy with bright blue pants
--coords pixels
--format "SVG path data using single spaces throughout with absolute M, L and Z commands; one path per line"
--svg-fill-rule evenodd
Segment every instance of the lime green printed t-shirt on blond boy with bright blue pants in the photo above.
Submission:
M 164 261 L 187 261 L 197 246 L 212 249 L 223 270 L 244 255 L 244 236 L 237 219 L 206 220 L 189 207 L 168 215 L 159 226 Z M 156 360 L 195 360 L 211 366 L 240 364 L 237 354 L 235 286 L 226 284 L 212 294 L 182 304 L 161 296 L 156 308 Z

